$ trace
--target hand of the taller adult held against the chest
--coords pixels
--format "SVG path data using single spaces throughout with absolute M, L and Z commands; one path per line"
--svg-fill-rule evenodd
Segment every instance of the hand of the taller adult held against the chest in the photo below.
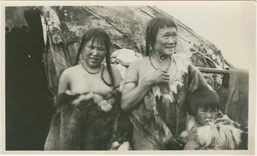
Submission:
M 151 83 L 152 85 L 156 85 L 162 82 L 169 82 L 169 80 L 170 76 L 167 71 L 156 70 L 144 77 L 141 81 L 146 81 Z

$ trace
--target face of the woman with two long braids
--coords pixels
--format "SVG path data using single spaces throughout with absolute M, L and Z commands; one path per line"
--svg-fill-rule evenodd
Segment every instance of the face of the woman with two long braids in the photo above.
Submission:
M 105 57 L 106 48 L 100 42 L 97 43 L 96 39 L 91 43 L 92 39 L 84 45 L 82 58 L 90 68 L 98 68 Z

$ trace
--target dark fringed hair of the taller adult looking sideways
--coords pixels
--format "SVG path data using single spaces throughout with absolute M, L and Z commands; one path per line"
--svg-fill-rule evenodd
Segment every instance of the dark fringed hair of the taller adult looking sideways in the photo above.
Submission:
M 145 30 L 145 47 L 146 47 L 145 55 L 146 56 L 150 54 L 150 46 L 152 46 L 153 48 L 153 44 L 155 42 L 158 30 L 164 27 L 174 27 L 177 30 L 177 26 L 175 22 L 168 17 L 155 17 L 149 21 Z

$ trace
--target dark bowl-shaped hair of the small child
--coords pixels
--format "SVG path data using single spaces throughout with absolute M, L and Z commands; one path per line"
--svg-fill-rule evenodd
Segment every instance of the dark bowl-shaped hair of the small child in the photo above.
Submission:
M 195 116 L 198 107 L 204 109 L 217 109 L 219 110 L 219 97 L 216 92 L 211 90 L 196 90 L 188 95 L 187 100 L 187 112 L 189 115 Z

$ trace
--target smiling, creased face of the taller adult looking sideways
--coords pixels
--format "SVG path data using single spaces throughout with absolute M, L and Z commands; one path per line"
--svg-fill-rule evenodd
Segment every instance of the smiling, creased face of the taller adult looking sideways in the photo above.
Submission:
M 164 27 L 158 30 L 154 43 L 154 50 L 160 56 L 172 55 L 177 45 L 177 30 L 174 27 Z

